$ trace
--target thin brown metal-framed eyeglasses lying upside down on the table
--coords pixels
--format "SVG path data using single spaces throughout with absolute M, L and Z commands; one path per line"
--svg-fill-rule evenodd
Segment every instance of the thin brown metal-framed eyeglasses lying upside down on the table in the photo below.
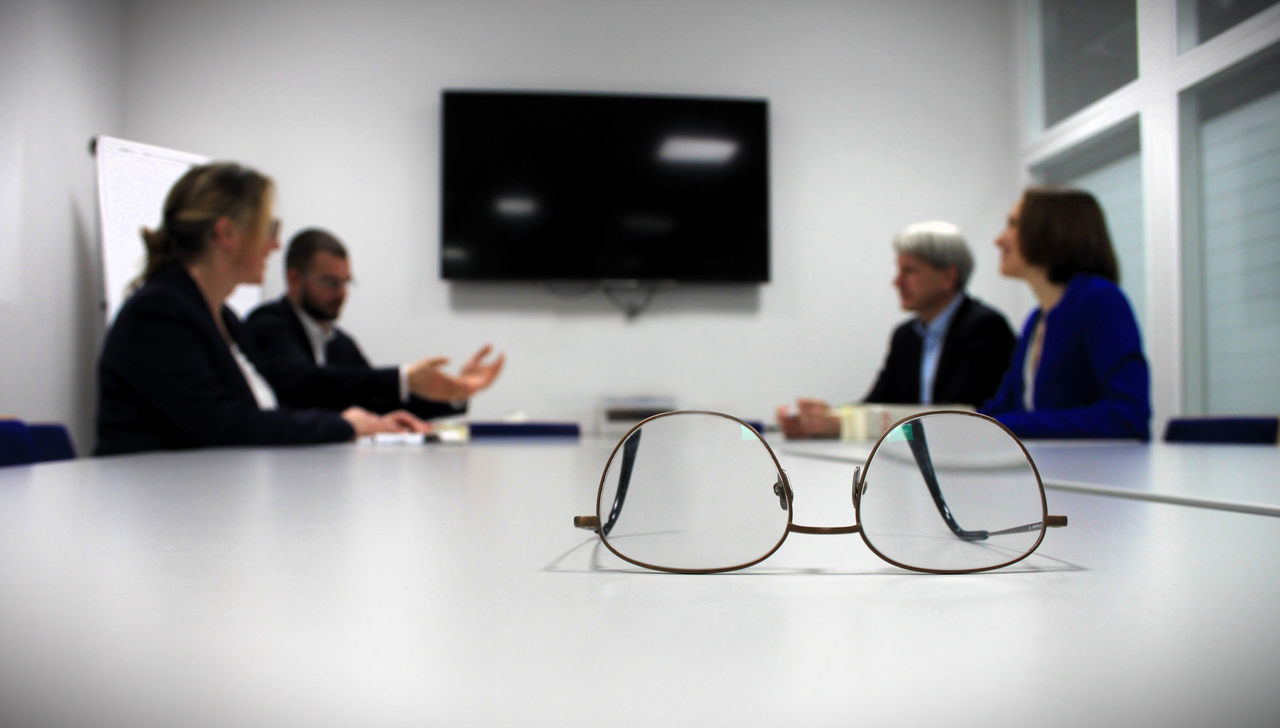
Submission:
M 854 471 L 852 526 L 791 522 L 786 472 L 759 432 L 718 412 L 668 412 L 636 425 L 613 449 L 595 516 L 573 525 L 650 569 L 712 573 L 756 564 L 788 534 L 861 534 L 891 564 L 968 573 L 1036 550 L 1050 516 L 1044 485 L 1021 441 L 973 412 L 897 422 Z

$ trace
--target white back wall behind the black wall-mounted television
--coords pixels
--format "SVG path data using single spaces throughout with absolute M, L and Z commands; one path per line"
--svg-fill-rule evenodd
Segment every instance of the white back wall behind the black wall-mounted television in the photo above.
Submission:
M 607 395 L 768 417 L 859 398 L 902 320 L 899 228 L 972 237 L 972 289 L 1025 312 L 991 239 L 1018 193 L 1006 1 L 127 4 L 123 136 L 279 183 L 285 233 L 353 252 L 343 325 L 378 362 L 485 342 L 508 368 L 472 406 L 590 421 Z M 599 294 L 438 279 L 444 87 L 764 96 L 773 281 L 659 293 L 627 322 Z M 269 270 L 280 289 L 280 261 Z

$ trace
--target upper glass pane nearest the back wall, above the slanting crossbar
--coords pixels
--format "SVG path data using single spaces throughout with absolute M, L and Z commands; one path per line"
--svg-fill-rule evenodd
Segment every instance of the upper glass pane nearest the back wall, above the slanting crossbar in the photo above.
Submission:
M 1041 0 L 1046 127 L 1138 78 L 1137 20 L 1132 1 Z

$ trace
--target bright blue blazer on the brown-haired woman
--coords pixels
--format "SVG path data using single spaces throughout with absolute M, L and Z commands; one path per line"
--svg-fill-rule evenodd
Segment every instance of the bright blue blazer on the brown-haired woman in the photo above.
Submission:
M 980 409 L 1020 438 L 1151 439 L 1151 374 L 1129 299 L 1110 280 L 1080 274 L 1048 312 L 1036 408 L 1023 406 L 1023 365 L 1039 321 L 1027 317 L 996 395 Z

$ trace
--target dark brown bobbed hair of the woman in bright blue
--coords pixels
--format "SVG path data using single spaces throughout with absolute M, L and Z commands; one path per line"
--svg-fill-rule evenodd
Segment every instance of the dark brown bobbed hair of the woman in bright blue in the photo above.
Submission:
M 1053 283 L 1080 273 L 1120 283 L 1107 220 L 1092 194 L 1068 187 L 1028 187 L 1018 218 L 1023 258 L 1048 271 Z

